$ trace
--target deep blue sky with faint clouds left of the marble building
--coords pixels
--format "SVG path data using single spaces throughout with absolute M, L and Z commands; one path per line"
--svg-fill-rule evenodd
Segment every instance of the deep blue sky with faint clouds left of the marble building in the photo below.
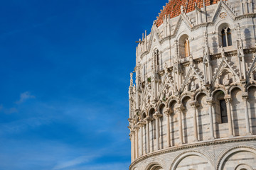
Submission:
M 128 169 L 136 40 L 167 0 L 8 0 L 0 170 Z

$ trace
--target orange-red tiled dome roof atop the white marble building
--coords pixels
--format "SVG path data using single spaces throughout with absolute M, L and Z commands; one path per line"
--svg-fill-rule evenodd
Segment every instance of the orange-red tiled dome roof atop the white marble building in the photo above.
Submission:
M 195 4 L 198 8 L 202 8 L 203 1 L 205 1 L 206 6 L 209 6 L 211 4 L 217 4 L 220 0 L 169 0 L 169 3 L 166 3 L 166 6 L 164 6 L 161 13 L 159 13 L 156 26 L 161 26 L 164 16 L 170 15 L 170 18 L 179 16 L 181 14 L 181 6 L 183 6 L 184 13 L 189 13 L 195 10 Z

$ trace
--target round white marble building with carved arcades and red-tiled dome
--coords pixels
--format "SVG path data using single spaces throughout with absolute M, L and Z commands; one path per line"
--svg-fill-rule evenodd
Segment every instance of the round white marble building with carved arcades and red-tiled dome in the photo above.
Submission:
M 130 170 L 256 169 L 255 7 L 166 3 L 130 74 Z

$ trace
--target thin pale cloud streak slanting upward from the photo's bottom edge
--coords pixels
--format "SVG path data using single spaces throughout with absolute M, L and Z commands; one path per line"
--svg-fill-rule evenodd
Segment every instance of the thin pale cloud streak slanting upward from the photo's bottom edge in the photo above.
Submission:
M 79 165 L 79 164 L 82 164 L 82 163 L 87 163 L 87 162 L 92 161 L 92 159 L 95 159 L 96 157 L 98 157 L 98 156 L 92 154 L 90 156 L 78 157 L 78 158 L 75 158 L 75 159 L 67 161 L 67 162 L 61 162 L 60 164 L 57 164 L 56 166 L 54 166 L 53 170 L 65 169 L 65 168 L 70 167 L 70 166 L 75 166 L 75 165 Z

